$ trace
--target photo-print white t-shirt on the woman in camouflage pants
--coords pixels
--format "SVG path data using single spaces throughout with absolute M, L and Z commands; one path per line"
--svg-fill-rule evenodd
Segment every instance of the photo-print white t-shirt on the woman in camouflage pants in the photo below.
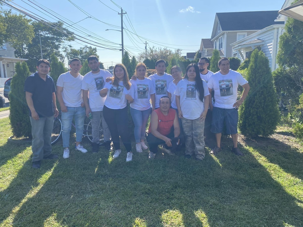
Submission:
M 204 97 L 209 95 L 207 83 L 203 81 Z M 180 107 L 183 117 L 189 120 L 194 120 L 200 117 L 204 111 L 203 102 L 199 99 L 199 92 L 197 91 L 195 81 L 188 81 L 182 79 L 178 82 L 175 90 L 175 95 L 180 96 Z

